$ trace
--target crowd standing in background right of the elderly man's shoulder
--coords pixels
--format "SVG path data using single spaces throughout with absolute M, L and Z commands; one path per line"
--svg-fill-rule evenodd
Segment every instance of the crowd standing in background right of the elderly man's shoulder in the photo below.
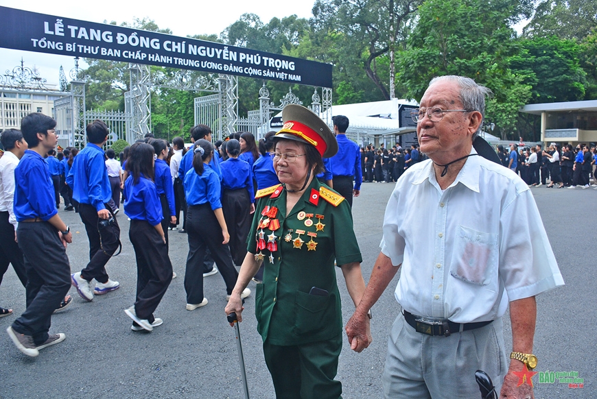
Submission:
M 585 143 L 576 146 L 550 143 L 545 149 L 541 144 L 532 147 L 511 144 L 509 152 L 498 145 L 498 156 L 502 165 L 515 171 L 529 186 L 597 189 L 597 184 L 590 184 L 597 167 L 597 149 Z

